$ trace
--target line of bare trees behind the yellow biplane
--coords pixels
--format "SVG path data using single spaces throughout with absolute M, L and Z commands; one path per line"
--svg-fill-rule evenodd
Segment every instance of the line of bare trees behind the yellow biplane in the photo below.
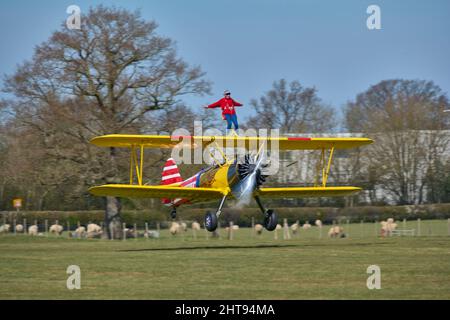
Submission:
M 1 89 L 0 210 L 11 209 L 13 197 L 23 198 L 29 210 L 106 208 L 107 224 L 120 228 L 122 206 L 159 202 L 90 196 L 92 185 L 126 181 L 129 161 L 124 150 L 91 146 L 92 137 L 172 132 L 194 120 L 223 127 L 183 100 L 211 94 L 201 67 L 179 57 L 155 21 L 124 9 L 91 8 L 80 30 L 63 23 L 4 76 Z M 340 114 L 316 88 L 280 79 L 250 107 L 244 127 L 297 134 L 340 128 L 373 138 L 372 146 L 349 153 L 351 180 L 335 178 L 367 189 L 371 203 L 383 202 L 380 188 L 398 204 L 450 201 L 450 115 L 443 112 L 450 107 L 433 81 L 381 81 Z M 159 183 L 167 156 L 164 150 L 146 153 L 146 182 Z M 186 174 L 197 169 L 182 167 Z

